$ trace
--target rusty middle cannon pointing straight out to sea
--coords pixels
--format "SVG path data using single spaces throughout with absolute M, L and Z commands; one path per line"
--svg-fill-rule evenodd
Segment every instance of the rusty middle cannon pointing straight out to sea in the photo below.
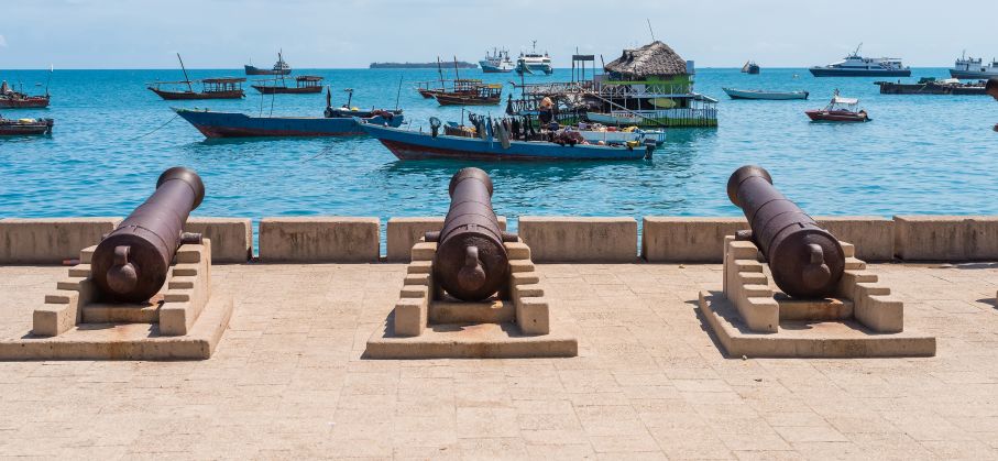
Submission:
M 450 178 L 450 209 L 439 232 L 427 232 L 437 242 L 434 278 L 451 296 L 479 301 L 505 286 L 509 259 L 503 242 L 516 235 L 503 232 L 492 210 L 492 179 L 479 168 L 463 168 Z

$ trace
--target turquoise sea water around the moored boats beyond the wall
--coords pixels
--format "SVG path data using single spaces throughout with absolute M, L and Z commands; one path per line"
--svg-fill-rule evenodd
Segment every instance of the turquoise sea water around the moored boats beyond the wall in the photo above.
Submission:
M 333 88 L 333 105 L 354 88 L 354 106 L 398 106 L 414 125 L 459 108 L 419 97 L 413 81 L 436 70 L 307 70 Z M 0 73 L 39 92 L 44 72 Z M 793 75 L 799 74 L 799 78 Z M 194 70 L 191 78 L 238 75 Z M 533 80 L 563 80 L 569 72 Z M 462 72 L 462 76 L 481 76 Z M 915 69 L 913 76 L 945 76 Z M 163 101 L 144 83 L 179 79 L 179 70 L 56 70 L 47 110 L 7 110 L 8 118 L 51 117 L 51 138 L 0 140 L 0 217 L 122 216 L 153 189 L 166 167 L 186 165 L 208 196 L 196 216 L 442 215 L 447 180 L 467 165 L 496 185 L 506 216 L 736 216 L 727 176 L 755 163 L 813 215 L 998 215 L 998 102 L 988 97 L 880 96 L 875 78 L 815 79 L 804 69 L 700 69 L 697 89 L 721 100 L 716 130 L 671 130 L 654 161 L 617 163 L 469 163 L 396 160 L 371 139 L 206 141 L 174 107 L 249 113 L 320 116 L 325 95 L 244 100 Z M 508 81 L 514 75 L 484 76 Z M 807 89 L 808 101 L 732 101 L 721 90 Z M 805 109 L 824 106 L 834 88 L 859 97 L 874 119 L 865 124 L 810 123 Z M 507 91 L 509 87 L 507 85 Z M 502 107 L 480 109 L 498 114 Z M 164 125 L 165 124 L 165 125 Z M 158 127 L 162 129 L 156 130 Z

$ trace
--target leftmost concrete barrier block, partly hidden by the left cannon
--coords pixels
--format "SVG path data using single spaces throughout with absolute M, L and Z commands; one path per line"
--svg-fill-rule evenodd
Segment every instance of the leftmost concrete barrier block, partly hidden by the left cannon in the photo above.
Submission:
M 96 245 L 121 218 L 0 219 L 0 264 L 61 264 Z

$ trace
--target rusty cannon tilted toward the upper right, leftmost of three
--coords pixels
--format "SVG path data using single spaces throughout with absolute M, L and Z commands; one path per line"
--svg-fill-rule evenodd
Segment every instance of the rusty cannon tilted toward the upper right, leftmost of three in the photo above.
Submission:
M 163 172 L 153 195 L 94 251 L 90 273 L 100 293 L 123 303 L 155 295 L 177 249 L 201 242 L 200 234 L 184 232 L 184 223 L 204 198 L 205 185 L 193 169 L 176 166 Z

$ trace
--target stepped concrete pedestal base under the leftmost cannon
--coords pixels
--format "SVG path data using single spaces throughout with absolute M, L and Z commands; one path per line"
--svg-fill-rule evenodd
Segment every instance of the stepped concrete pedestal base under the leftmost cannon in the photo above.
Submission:
M 211 242 L 177 250 L 163 289 L 144 303 L 105 303 L 90 278 L 96 246 L 45 296 L 32 330 L 0 339 L 0 360 L 208 359 L 232 312 L 211 297 Z

